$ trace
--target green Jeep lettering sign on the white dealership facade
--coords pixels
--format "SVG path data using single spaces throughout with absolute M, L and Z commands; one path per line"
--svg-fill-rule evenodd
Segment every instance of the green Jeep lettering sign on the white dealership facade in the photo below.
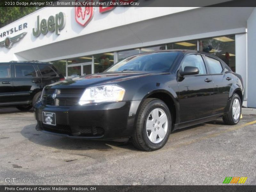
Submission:
M 38 37 L 41 33 L 47 34 L 48 31 L 54 32 L 56 35 L 60 35 L 60 29 L 63 29 L 66 24 L 65 13 L 59 12 L 55 16 L 50 16 L 48 20 L 42 19 L 40 22 L 40 16 L 37 16 L 36 28 L 33 28 L 33 35 Z

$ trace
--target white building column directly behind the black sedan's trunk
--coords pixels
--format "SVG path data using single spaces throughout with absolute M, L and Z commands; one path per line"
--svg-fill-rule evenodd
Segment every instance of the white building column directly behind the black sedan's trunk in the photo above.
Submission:
M 247 106 L 247 34 L 236 34 L 236 73 L 240 74 L 244 83 L 244 102 Z

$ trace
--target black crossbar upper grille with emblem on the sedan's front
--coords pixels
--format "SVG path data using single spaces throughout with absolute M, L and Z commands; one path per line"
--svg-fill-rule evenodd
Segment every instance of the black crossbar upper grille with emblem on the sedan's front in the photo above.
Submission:
M 44 89 L 43 104 L 52 106 L 74 106 L 78 104 L 84 88 Z M 53 94 L 56 97 L 53 99 Z

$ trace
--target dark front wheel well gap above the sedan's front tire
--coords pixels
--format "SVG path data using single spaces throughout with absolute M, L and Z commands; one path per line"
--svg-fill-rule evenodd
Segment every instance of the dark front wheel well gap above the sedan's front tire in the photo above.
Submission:
M 168 106 L 171 116 L 172 116 L 172 129 L 174 128 L 174 124 L 176 122 L 176 108 L 174 101 L 170 95 L 163 92 L 153 93 L 148 96 L 148 98 L 156 98 L 164 101 L 164 103 Z

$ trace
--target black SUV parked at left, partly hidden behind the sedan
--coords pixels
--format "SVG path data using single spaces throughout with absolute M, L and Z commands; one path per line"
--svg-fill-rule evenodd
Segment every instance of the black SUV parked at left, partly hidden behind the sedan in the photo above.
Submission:
M 49 63 L 0 63 L 0 106 L 15 105 L 20 110 L 29 110 L 40 99 L 45 85 L 64 79 Z

